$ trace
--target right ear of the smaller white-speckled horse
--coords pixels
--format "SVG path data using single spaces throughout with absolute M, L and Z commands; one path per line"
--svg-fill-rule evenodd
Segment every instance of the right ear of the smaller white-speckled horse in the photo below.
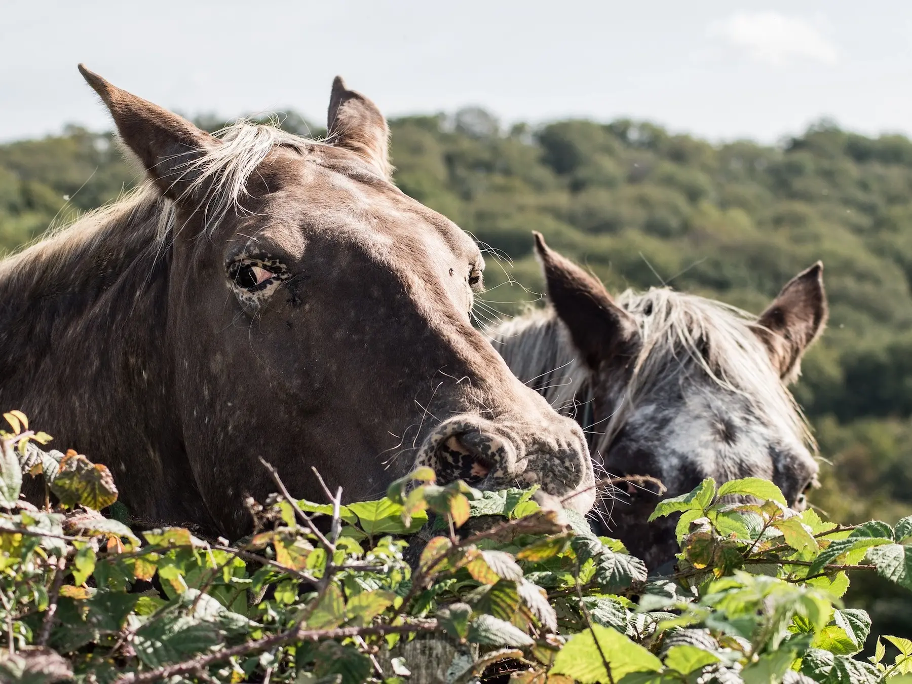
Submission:
M 798 377 L 804 351 L 820 337 L 828 315 L 824 264 L 818 261 L 795 275 L 757 320 L 754 332 L 783 380 Z

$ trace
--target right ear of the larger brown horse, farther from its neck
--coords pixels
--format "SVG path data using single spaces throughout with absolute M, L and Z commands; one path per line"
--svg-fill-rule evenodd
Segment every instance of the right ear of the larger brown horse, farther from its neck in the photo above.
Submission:
M 346 88 L 341 76 L 333 80 L 326 131 L 327 142 L 355 152 L 385 179 L 392 178 L 387 119 L 368 98 Z

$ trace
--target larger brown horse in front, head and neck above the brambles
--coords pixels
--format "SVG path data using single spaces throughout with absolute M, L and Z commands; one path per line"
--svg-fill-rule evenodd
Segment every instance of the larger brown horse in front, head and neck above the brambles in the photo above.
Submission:
M 274 489 L 260 457 L 304 497 L 311 466 L 357 500 L 420 462 L 588 510 L 583 433 L 472 327 L 482 255 L 392 183 L 368 98 L 337 78 L 322 142 L 210 135 L 80 71 L 150 182 L 0 265 L 0 403 L 108 463 L 134 513 L 226 535 Z

